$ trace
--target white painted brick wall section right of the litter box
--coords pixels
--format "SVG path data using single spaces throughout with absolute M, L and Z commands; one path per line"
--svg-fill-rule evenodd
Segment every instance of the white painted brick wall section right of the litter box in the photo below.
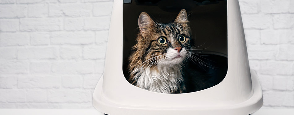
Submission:
M 263 108 L 294 108 L 294 0 L 239 0 Z

